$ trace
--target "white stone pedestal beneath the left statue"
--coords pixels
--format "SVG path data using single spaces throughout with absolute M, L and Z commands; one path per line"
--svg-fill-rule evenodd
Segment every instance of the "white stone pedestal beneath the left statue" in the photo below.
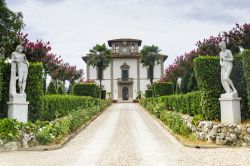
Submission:
M 26 101 L 26 95 L 16 94 L 10 97 L 8 104 L 8 117 L 16 119 L 19 122 L 28 121 L 28 105 Z

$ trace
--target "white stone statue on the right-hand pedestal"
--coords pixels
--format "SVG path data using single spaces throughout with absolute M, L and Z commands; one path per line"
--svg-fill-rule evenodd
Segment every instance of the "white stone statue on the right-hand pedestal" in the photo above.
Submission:
M 226 91 L 226 94 L 237 95 L 237 90 L 234 87 L 232 80 L 229 78 L 233 69 L 233 55 L 229 49 L 226 49 L 226 42 L 219 43 L 220 52 L 220 65 L 221 65 L 221 83 Z M 237 97 L 237 96 L 235 96 Z

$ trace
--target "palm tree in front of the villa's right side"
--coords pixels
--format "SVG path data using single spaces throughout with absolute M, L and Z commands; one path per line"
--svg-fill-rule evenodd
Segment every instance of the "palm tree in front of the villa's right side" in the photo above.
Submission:
M 148 74 L 150 79 L 150 84 L 153 85 L 154 79 L 154 66 L 155 64 L 160 64 L 160 52 L 157 46 L 143 46 L 141 50 L 141 63 L 143 67 L 148 68 Z

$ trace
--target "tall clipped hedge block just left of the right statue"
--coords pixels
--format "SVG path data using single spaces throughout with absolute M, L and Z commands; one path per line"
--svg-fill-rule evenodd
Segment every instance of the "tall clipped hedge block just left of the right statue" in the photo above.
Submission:
M 219 57 L 194 59 L 194 70 L 201 91 L 201 109 L 205 119 L 220 119 L 219 97 L 223 93 Z

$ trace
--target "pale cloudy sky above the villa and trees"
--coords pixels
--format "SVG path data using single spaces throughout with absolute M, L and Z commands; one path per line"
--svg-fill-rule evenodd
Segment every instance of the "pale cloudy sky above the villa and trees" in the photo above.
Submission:
M 81 59 L 97 43 L 135 38 L 177 56 L 199 40 L 250 22 L 250 0 L 6 0 L 21 11 L 32 41 L 50 41 L 64 62 L 85 70 Z

